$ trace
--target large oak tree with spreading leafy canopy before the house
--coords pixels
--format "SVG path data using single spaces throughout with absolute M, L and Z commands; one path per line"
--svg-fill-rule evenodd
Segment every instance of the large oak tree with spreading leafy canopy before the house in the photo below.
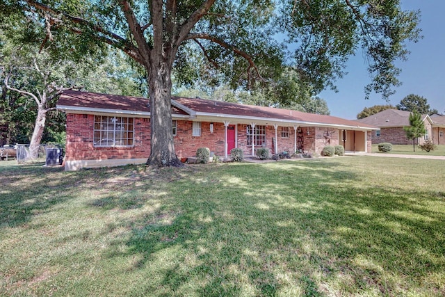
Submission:
M 334 87 L 348 56 L 363 49 L 373 77 L 366 93 L 387 97 L 399 83 L 394 61 L 405 58 L 406 40 L 419 38 L 418 13 L 403 11 L 397 0 L 0 0 L 0 6 L 41 24 L 42 45 L 82 53 L 105 42 L 145 67 L 147 163 L 154 166 L 180 166 L 171 129 L 173 70 L 193 79 L 204 57 L 207 71 L 197 75 L 250 87 L 279 76 L 286 63 L 316 93 Z M 276 39 L 292 45 L 292 54 Z

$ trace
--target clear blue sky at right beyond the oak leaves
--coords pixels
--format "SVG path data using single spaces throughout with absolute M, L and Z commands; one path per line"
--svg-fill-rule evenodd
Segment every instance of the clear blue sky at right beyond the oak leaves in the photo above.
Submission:
M 336 83 L 339 92 L 325 90 L 319 95 L 326 100 L 331 115 L 355 119 L 364 107 L 396 105 L 410 94 L 425 97 L 432 109 L 445 113 L 445 1 L 402 0 L 402 7 L 404 10 L 421 10 L 419 26 L 423 35 L 419 42 L 407 44 L 411 51 L 408 61 L 397 63 L 402 69 L 398 77 L 402 86 L 395 88 L 396 94 L 389 97 L 389 102 L 375 93 L 369 100 L 364 99 L 364 87 L 371 78 L 366 72 L 365 58 L 357 54 L 348 62 L 348 74 Z

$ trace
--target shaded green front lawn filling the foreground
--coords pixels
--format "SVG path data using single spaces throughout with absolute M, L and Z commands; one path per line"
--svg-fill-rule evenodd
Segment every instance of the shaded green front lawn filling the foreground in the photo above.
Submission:
M 445 161 L 0 162 L 0 295 L 444 296 Z

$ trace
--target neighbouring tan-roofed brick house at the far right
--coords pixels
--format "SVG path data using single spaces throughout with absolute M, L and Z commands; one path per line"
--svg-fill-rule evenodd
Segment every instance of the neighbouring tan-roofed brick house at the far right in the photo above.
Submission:
M 436 145 L 445 144 L 445 116 L 435 114 L 432 116 L 421 115 L 421 117 L 426 133 L 424 136 L 417 138 L 416 143 L 421 145 L 431 139 Z M 357 121 L 380 128 L 372 134 L 373 143 L 412 144 L 412 139 L 408 139 L 405 130 L 403 130 L 403 127 L 410 125 L 410 111 L 386 109 Z

